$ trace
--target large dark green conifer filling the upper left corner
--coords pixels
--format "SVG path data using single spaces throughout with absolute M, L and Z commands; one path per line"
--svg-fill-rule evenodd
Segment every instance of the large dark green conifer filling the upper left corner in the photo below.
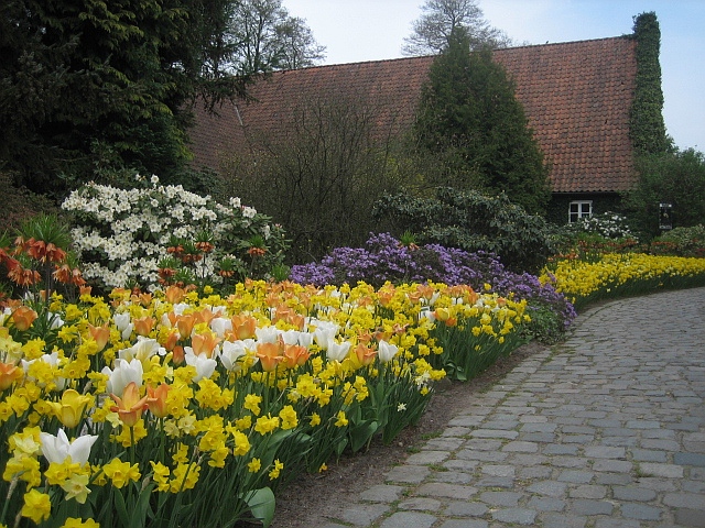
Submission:
M 242 96 L 224 70 L 232 0 L 6 0 L 0 169 L 36 191 L 106 160 L 169 180 L 188 160 L 188 102 Z

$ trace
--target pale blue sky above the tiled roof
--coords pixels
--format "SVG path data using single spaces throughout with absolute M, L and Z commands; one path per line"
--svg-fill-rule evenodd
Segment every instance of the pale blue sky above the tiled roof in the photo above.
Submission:
M 306 20 L 323 64 L 401 57 L 424 0 L 283 0 Z M 630 34 L 653 11 L 661 28 L 666 132 L 677 147 L 705 152 L 705 0 L 479 0 L 487 21 L 521 44 Z

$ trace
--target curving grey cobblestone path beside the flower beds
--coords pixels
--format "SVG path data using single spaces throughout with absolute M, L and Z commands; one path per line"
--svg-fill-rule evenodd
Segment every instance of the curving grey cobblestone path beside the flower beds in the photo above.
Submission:
M 705 288 L 587 310 L 325 527 L 705 527 Z

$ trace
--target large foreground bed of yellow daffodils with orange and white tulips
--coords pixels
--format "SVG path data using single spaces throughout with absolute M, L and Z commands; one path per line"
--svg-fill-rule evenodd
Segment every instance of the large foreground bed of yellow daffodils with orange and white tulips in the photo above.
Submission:
M 446 369 L 516 346 L 524 308 L 469 286 L 252 280 L 10 302 L 0 525 L 268 526 L 282 482 L 392 441 Z

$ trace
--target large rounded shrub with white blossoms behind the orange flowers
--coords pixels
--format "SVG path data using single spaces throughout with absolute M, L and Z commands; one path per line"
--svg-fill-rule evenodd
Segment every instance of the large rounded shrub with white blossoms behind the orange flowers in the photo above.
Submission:
M 227 206 L 152 176 L 142 187 L 119 189 L 90 183 L 62 205 L 85 278 L 109 290 L 139 285 L 235 282 L 263 278 L 280 266 L 283 230 L 231 198 Z

